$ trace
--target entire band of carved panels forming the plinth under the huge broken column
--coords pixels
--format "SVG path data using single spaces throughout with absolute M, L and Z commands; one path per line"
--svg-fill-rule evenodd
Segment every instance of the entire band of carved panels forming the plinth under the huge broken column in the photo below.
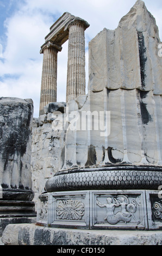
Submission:
M 92 190 L 42 194 L 37 223 L 78 229 L 162 229 L 159 191 Z

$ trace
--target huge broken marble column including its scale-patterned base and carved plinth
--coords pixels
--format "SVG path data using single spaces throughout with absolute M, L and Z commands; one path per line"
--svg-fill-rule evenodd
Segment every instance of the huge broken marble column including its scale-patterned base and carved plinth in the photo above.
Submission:
M 61 166 L 46 182 L 48 193 L 39 197 L 39 223 L 88 229 L 161 227 L 155 192 L 162 182 L 159 43 L 154 17 L 142 1 L 115 31 L 105 28 L 90 41 L 88 95 L 68 99 L 64 114 L 53 113 L 55 132 L 64 117 Z M 46 210 L 48 205 L 46 218 L 43 205 Z

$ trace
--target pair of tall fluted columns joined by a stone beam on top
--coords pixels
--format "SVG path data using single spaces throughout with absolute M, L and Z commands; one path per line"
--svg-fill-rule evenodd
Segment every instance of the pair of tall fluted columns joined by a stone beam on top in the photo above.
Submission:
M 88 22 L 64 13 L 50 28 L 41 46 L 43 69 L 40 97 L 40 115 L 49 102 L 57 101 L 57 54 L 68 40 L 66 101 L 85 95 L 85 39 Z

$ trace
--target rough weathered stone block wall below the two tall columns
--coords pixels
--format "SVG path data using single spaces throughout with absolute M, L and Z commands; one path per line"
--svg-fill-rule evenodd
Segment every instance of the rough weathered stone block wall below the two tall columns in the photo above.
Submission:
M 46 114 L 33 120 L 32 180 L 35 193 L 34 202 L 45 192 L 45 184 L 61 169 L 61 149 L 64 147 L 64 131 L 53 130 L 53 111 L 64 112 L 64 103 L 51 103 L 45 107 Z M 35 205 L 36 206 L 36 205 Z

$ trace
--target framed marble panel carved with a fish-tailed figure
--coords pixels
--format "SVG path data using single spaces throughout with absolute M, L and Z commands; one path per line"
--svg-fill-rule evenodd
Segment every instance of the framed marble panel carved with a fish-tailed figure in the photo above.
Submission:
M 92 229 L 145 229 L 144 191 L 92 191 Z

